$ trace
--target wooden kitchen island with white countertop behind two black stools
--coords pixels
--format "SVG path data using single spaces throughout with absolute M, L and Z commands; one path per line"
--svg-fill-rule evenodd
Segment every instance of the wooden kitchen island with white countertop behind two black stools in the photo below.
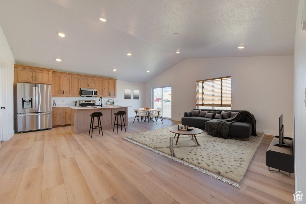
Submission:
M 128 107 L 131 106 L 71 107 L 71 131 L 73 134 L 88 133 L 91 120 L 89 115 L 94 112 L 101 112 L 103 114 L 103 116 L 101 116 L 102 129 L 110 129 L 114 127 L 114 113 L 125 111 L 124 122 L 125 126 L 128 126 Z M 97 118 L 94 120 L 94 126 L 98 126 Z M 94 131 L 98 131 L 98 129 L 94 129 Z

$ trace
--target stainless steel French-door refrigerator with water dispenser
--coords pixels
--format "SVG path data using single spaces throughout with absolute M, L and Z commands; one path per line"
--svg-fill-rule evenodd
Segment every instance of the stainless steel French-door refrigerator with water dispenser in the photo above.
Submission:
M 17 83 L 17 132 L 52 128 L 51 85 Z

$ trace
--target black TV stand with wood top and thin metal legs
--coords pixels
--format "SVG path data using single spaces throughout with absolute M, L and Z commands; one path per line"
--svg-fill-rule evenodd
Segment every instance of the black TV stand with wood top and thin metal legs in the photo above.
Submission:
M 294 154 L 293 154 L 293 138 L 291 137 L 284 137 L 284 141 L 289 144 L 290 148 L 285 147 L 276 147 L 273 146 L 274 142 L 278 143 L 278 136 L 275 136 L 266 151 L 266 165 L 269 167 L 269 171 L 275 171 L 279 173 L 283 173 L 281 171 L 288 172 L 291 176 L 291 173 L 294 173 Z M 270 168 L 278 169 L 270 170 Z

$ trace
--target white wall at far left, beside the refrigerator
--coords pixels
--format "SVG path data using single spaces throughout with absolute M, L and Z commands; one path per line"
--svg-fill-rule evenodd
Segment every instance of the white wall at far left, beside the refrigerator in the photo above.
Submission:
M 6 109 L 2 111 L 6 111 L 6 117 L 3 118 L 6 120 L 7 131 L 6 135 L 3 135 L 3 140 L 8 140 L 14 134 L 14 57 L 9 48 L 9 44 L 4 36 L 2 28 L 0 26 L 0 63 L 4 65 L 7 69 L 7 79 L 6 79 L 6 88 L 7 88 L 7 101 L 8 103 L 5 105 Z M 0 90 L 1 91 L 1 90 Z M 0 93 L 2 94 L 2 93 Z

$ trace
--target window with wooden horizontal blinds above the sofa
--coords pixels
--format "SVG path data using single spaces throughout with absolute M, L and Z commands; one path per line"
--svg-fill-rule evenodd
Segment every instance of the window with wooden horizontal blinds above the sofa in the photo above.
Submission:
M 196 106 L 231 107 L 232 77 L 196 81 Z

